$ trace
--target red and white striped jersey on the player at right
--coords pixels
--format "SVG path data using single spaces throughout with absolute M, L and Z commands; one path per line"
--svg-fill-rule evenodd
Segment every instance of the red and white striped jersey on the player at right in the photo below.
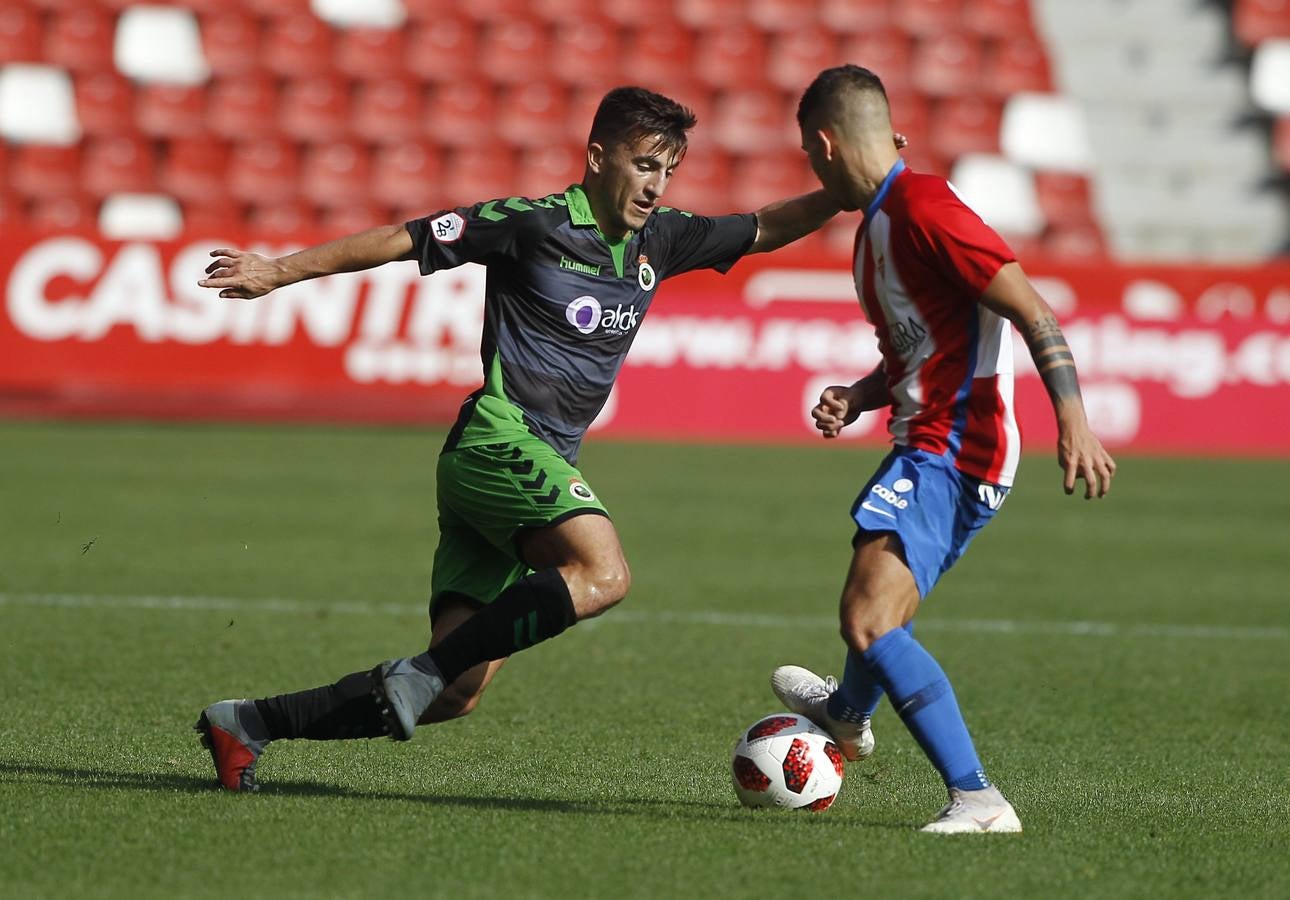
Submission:
M 1022 449 L 1013 331 L 978 300 L 1015 257 L 944 178 L 893 174 L 857 232 L 854 260 L 894 398 L 891 441 L 1011 485 Z

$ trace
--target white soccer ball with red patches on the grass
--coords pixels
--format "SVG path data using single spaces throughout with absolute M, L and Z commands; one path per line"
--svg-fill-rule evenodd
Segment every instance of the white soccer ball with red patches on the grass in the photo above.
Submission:
M 739 736 L 730 761 L 744 806 L 827 810 L 842 787 L 842 752 L 804 716 L 777 713 Z

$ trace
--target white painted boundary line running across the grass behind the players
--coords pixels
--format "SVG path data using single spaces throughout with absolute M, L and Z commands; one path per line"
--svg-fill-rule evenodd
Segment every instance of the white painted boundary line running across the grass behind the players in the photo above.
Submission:
M 424 615 L 418 603 L 361 603 L 328 600 L 294 600 L 289 597 L 150 597 L 66 593 L 0 593 L 0 606 L 40 606 L 63 609 L 121 610 L 192 610 L 243 612 L 342 612 L 352 615 Z M 756 612 L 719 612 L 715 610 L 632 610 L 630 606 L 610 610 L 586 625 L 716 625 L 721 628 L 818 629 L 837 627 L 837 619 L 826 615 L 775 615 Z M 918 620 L 918 631 L 978 634 L 1057 634 L 1066 637 L 1169 637 L 1229 641 L 1290 641 L 1290 628 L 1280 625 L 1175 625 L 1117 624 L 1112 621 L 1022 621 L 1017 619 L 928 619 Z

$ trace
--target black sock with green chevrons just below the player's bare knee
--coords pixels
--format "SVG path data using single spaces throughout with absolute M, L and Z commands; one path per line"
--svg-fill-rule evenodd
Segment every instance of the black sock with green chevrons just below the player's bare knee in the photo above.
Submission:
M 552 638 L 577 620 L 569 585 L 557 570 L 543 569 L 499 593 L 442 643 L 414 656 L 413 664 L 428 658 L 444 676 L 444 683 L 452 685 L 467 669 Z

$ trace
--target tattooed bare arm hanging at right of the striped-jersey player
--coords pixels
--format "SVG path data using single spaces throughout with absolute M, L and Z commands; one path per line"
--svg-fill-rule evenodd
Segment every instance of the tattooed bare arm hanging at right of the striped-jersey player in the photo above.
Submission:
M 1080 396 L 1075 355 L 1057 324 L 1053 308 L 1038 295 L 1017 263 L 1007 263 L 986 289 L 980 302 L 1005 316 L 1026 339 L 1057 415 L 1057 460 L 1066 473 L 1066 493 L 1084 478 L 1084 496 L 1106 496 L 1116 473 L 1116 460 L 1089 429 Z

